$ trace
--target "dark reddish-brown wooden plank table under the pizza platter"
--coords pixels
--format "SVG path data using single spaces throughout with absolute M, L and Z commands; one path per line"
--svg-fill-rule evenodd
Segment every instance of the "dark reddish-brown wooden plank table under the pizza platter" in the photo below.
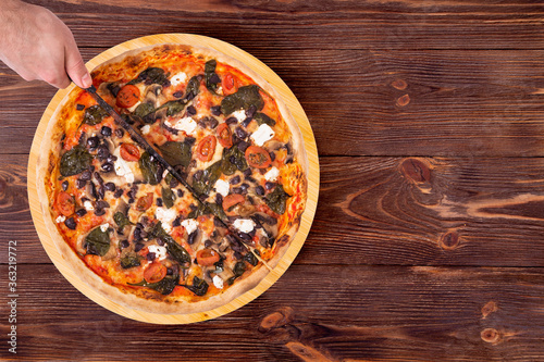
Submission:
M 298 258 L 255 301 L 190 325 L 124 319 L 41 247 L 26 165 L 55 89 L 0 65 L 0 359 L 544 360 L 543 3 L 33 2 L 70 26 L 85 60 L 160 33 L 259 58 L 306 110 L 321 189 Z M 285 324 L 259 328 L 276 312 Z

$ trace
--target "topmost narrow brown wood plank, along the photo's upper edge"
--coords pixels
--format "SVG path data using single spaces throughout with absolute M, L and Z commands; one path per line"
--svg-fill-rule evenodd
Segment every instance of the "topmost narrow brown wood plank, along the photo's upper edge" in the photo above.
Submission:
M 282 49 L 543 49 L 544 9 L 523 1 L 40 1 L 84 47 L 160 33 Z M 120 27 L 120 18 L 129 27 Z M 89 36 L 89 30 L 92 36 Z

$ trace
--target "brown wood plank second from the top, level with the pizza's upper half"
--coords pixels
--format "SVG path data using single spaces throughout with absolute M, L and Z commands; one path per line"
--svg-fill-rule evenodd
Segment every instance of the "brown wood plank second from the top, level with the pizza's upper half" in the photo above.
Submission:
M 252 50 L 299 99 L 322 155 L 544 155 L 543 51 Z M 10 72 L 0 153 L 27 153 L 54 89 Z

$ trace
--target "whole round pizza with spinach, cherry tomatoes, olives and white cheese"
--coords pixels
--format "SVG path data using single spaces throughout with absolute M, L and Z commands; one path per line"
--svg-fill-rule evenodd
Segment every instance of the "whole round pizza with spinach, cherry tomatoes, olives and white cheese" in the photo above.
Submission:
M 208 311 L 255 288 L 307 200 L 302 138 L 279 93 L 235 59 L 175 43 L 125 52 L 91 77 L 184 182 L 72 89 L 37 173 L 71 272 L 113 302 L 162 314 Z

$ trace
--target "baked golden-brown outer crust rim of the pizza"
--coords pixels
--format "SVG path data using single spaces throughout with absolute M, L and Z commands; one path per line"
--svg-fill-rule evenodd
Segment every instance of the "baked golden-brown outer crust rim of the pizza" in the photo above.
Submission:
M 306 199 L 307 197 L 306 175 L 308 174 L 308 158 L 306 155 L 302 135 L 298 128 L 298 125 L 290 115 L 290 112 L 288 111 L 287 107 L 281 99 L 280 95 L 275 91 L 275 89 L 272 86 L 270 86 L 256 72 L 247 67 L 244 63 L 209 48 L 165 43 L 165 45 L 150 46 L 147 48 L 128 51 L 126 53 L 123 53 L 119 57 L 115 57 L 104 62 L 97 68 L 104 68 L 110 64 L 115 64 L 120 61 L 128 61 L 131 63 L 136 63 L 139 57 L 141 57 L 140 54 L 143 52 L 149 51 L 151 49 L 153 49 L 153 51 L 162 52 L 162 51 L 168 51 L 170 47 L 182 47 L 182 49 L 186 51 L 196 52 L 198 54 L 202 54 L 203 57 L 214 58 L 218 60 L 218 62 L 223 62 L 228 65 L 232 65 L 240 70 L 244 74 L 251 77 L 265 92 L 272 96 L 272 98 L 276 101 L 280 112 L 284 121 L 287 123 L 288 128 L 292 133 L 294 154 L 296 160 L 302 166 L 299 183 L 301 184 L 301 187 L 304 189 L 302 197 L 304 199 Z M 96 71 L 97 68 L 95 68 L 94 71 Z M 239 277 L 236 280 L 236 283 L 230 288 L 227 288 L 225 291 L 196 303 L 186 301 L 168 302 L 161 300 L 144 299 L 135 295 L 124 292 L 120 288 L 112 286 L 108 283 L 104 283 L 104 280 L 99 275 L 95 274 L 84 263 L 84 261 L 65 242 L 64 238 L 59 233 L 55 222 L 52 219 L 51 209 L 49 207 L 50 196 L 48 195 L 44 183 L 44 180 L 48 179 L 49 175 L 51 175 L 51 173 L 54 171 L 54 168 L 57 167 L 57 163 L 59 161 L 59 152 L 60 152 L 59 145 L 60 145 L 60 139 L 62 137 L 62 130 L 61 130 L 62 122 L 64 122 L 64 120 L 60 115 L 60 111 L 70 102 L 73 103 L 76 95 L 77 91 L 70 92 L 61 102 L 61 104 L 57 108 L 57 111 L 52 115 L 51 120 L 52 121 L 58 120 L 58 122 L 49 123 L 47 127 L 47 130 L 44 136 L 44 142 L 41 145 L 40 153 L 38 157 L 37 173 L 36 173 L 38 199 L 41 204 L 41 212 L 45 216 L 44 220 L 46 227 L 51 236 L 54 246 L 62 255 L 63 260 L 67 265 L 70 265 L 71 273 L 77 275 L 77 277 L 82 282 L 88 285 L 92 290 L 96 290 L 101 297 L 114 303 L 118 303 L 125 308 L 140 310 L 149 313 L 157 313 L 157 314 L 190 314 L 190 313 L 210 311 L 223 307 L 233 301 L 234 299 L 238 298 L 239 296 L 244 295 L 245 292 L 248 292 L 251 289 L 256 288 L 259 285 L 259 283 L 261 283 L 264 279 L 264 277 L 270 273 L 270 270 L 265 267 L 265 265 L 263 265 L 262 263 L 259 263 L 258 264 L 259 266 L 254 269 L 249 275 L 243 275 L 242 277 Z M 298 220 L 295 223 L 292 223 L 287 228 L 280 230 L 280 235 L 277 237 L 279 242 L 276 242 L 276 245 L 274 246 L 274 248 L 276 248 L 275 254 L 271 260 L 267 262 L 267 264 L 271 269 L 274 269 L 279 264 L 279 262 L 287 251 L 288 246 L 290 245 L 290 241 L 295 237 L 296 232 L 299 227 L 299 219 L 302 211 L 304 211 L 304 204 L 302 204 L 302 210 L 300 210 L 300 213 L 298 214 Z

